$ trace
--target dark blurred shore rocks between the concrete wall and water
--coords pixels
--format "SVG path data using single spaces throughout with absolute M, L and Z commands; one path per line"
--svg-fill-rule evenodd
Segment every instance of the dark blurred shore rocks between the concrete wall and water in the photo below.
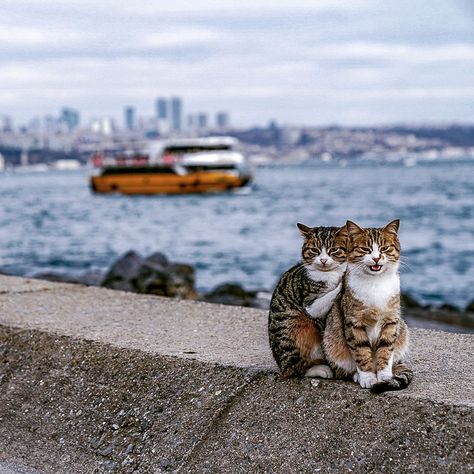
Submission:
M 192 265 L 171 262 L 161 252 L 143 258 L 131 250 L 105 272 L 90 271 L 76 276 L 47 272 L 26 278 L 268 310 L 271 290 L 247 290 L 238 283 L 224 282 L 209 292 L 199 292 L 195 273 Z M 402 293 L 401 305 L 403 317 L 411 327 L 474 334 L 474 301 L 462 310 L 449 304 L 423 305 L 410 294 Z

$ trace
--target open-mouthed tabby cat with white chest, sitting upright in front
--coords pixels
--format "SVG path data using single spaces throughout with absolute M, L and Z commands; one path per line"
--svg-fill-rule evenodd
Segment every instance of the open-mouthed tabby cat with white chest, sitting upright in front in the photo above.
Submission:
M 408 330 L 400 315 L 399 221 L 363 229 L 347 221 L 347 272 L 328 314 L 323 348 L 338 377 L 373 391 L 408 386 Z

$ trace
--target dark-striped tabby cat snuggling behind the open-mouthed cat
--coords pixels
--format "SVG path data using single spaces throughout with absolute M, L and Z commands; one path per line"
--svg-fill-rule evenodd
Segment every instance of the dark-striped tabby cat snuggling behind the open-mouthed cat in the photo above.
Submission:
M 268 319 L 270 348 L 282 376 L 331 378 L 321 349 L 324 319 L 341 291 L 346 269 L 346 227 L 307 227 L 302 262 L 278 282 Z

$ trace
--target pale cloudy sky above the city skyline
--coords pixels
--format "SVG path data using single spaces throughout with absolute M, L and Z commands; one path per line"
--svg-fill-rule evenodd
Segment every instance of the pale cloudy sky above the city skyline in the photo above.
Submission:
M 474 122 L 472 0 L 2 0 L 0 116 Z

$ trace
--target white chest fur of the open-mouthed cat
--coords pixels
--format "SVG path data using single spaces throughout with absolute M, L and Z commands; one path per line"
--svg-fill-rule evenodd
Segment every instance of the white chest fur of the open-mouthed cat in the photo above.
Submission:
M 381 275 L 351 272 L 348 268 L 347 285 L 359 301 L 377 309 L 387 308 L 391 298 L 400 292 L 400 276 L 397 271 Z

